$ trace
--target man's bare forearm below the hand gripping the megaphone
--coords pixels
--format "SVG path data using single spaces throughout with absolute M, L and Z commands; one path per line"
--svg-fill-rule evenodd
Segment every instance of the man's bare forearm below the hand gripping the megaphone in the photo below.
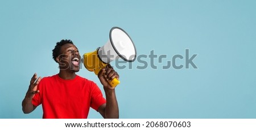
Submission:
M 119 118 L 119 109 L 115 90 L 105 90 L 106 94 L 106 107 L 105 118 Z

